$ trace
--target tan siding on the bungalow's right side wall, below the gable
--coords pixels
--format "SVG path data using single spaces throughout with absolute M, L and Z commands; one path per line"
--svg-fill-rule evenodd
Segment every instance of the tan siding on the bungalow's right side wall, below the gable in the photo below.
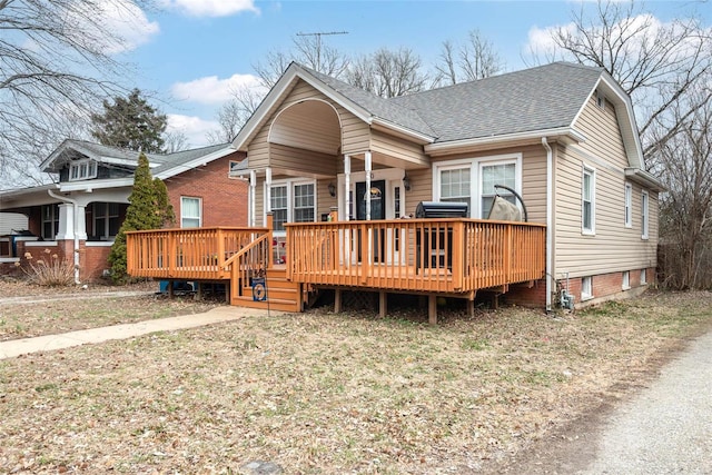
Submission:
M 584 165 L 595 170 L 595 235 L 582 234 L 581 191 Z M 633 226 L 626 228 L 625 176 L 600 166 L 573 147 L 558 154 L 555 198 L 557 278 L 609 274 L 655 264 L 656 196 L 650 192 L 650 239 L 641 239 L 641 187 L 633 185 Z M 654 222 L 654 224 L 653 224 Z

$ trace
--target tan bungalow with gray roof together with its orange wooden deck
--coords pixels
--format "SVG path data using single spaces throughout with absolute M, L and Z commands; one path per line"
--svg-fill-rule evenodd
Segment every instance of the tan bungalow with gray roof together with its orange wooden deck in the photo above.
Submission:
M 630 98 L 601 68 L 556 62 L 384 99 L 291 63 L 233 147 L 248 157 L 234 174 L 249 178 L 248 222 L 269 255 L 284 250 L 274 276 L 297 286 L 296 309 L 320 288 L 337 308 L 343 290 L 376 291 L 382 313 L 387 294 L 412 293 L 428 296 L 434 319 L 438 296 L 487 291 L 550 309 L 655 279 L 662 188 L 645 171 Z M 527 222 L 487 220 L 497 196 L 525 207 Z M 444 204 L 453 215 L 438 214 Z M 131 239 L 144 253 L 136 275 L 187 271 L 157 264 L 157 241 Z M 233 303 L 254 305 L 261 290 L 248 284 L 279 266 L 270 257 L 246 274 L 244 243 L 220 250 Z

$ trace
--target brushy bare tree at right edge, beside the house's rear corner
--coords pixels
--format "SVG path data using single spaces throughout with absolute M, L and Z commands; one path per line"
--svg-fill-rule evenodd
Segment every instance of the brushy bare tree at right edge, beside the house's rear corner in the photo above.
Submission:
M 693 96 L 686 101 L 696 105 L 706 93 Z M 679 120 L 674 133 L 655 128 L 664 137 L 655 155 L 669 189 L 660 212 L 663 283 L 675 289 L 712 288 L 712 105 L 691 113 L 679 102 L 673 115 Z

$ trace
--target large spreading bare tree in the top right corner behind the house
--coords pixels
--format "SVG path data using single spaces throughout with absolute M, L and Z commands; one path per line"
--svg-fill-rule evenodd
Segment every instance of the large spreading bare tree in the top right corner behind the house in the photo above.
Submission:
M 646 156 L 712 98 L 708 88 L 683 102 L 686 113 L 671 113 L 712 71 L 712 36 L 694 18 L 661 23 L 633 1 L 600 0 L 593 18 L 582 7 L 552 39 L 561 58 L 604 68 L 631 96 Z M 647 133 L 654 123 L 669 133 Z

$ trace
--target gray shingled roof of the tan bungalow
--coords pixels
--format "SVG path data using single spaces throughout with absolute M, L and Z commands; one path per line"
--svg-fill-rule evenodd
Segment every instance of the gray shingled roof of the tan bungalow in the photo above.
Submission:
M 304 69 L 372 116 L 435 142 L 570 127 L 603 73 L 602 68 L 555 62 L 384 99 Z

